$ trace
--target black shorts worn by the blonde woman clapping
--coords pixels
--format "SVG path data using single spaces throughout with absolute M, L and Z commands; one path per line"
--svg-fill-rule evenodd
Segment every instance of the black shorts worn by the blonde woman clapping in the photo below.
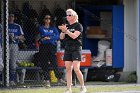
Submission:
M 81 61 L 81 53 L 82 49 L 75 51 L 67 51 L 64 52 L 63 61 Z

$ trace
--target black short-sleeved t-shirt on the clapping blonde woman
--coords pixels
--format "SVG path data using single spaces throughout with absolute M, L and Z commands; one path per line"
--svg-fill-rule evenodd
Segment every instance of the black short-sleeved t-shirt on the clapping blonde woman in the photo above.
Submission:
M 67 25 L 67 27 L 70 32 L 74 33 L 75 31 L 79 31 L 79 32 L 81 32 L 81 34 L 76 39 L 72 39 L 70 36 L 68 36 L 66 34 L 65 35 L 65 45 L 66 46 L 72 46 L 72 45 L 81 46 L 82 45 L 83 26 L 80 23 L 76 22 L 72 25 Z

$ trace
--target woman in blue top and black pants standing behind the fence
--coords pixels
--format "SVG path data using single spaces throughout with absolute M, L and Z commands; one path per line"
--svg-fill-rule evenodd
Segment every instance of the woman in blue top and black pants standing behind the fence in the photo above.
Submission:
M 50 87 L 49 67 L 51 66 L 55 72 L 56 77 L 59 79 L 59 83 L 65 83 L 59 75 L 57 60 L 56 60 L 56 45 L 59 39 L 59 32 L 52 24 L 52 18 L 50 15 L 46 15 L 43 19 L 44 24 L 40 26 L 40 66 L 45 73 L 46 87 Z

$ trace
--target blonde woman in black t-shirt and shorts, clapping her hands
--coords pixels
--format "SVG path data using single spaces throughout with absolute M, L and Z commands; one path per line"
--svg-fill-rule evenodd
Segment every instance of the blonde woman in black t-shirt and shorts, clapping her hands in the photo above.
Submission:
M 62 24 L 59 26 L 59 29 L 62 31 L 60 33 L 60 39 L 64 39 L 65 43 L 65 53 L 63 58 L 66 66 L 67 80 L 67 90 L 65 93 L 72 93 L 72 69 L 74 69 L 80 82 L 80 93 L 85 93 L 87 90 L 84 86 L 83 75 L 80 71 L 83 27 L 78 23 L 78 15 L 74 10 L 68 9 L 66 15 L 69 24 Z

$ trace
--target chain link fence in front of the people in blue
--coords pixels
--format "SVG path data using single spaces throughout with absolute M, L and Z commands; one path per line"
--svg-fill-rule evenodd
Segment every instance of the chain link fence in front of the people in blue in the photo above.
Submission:
M 56 56 L 59 37 L 47 42 L 40 29 L 53 32 L 56 28 L 58 33 L 51 35 L 59 36 L 57 27 L 66 22 L 65 10 L 74 8 L 74 0 L 1 0 L 0 5 L 0 86 L 65 85 L 65 70 Z M 42 35 L 51 36 L 49 32 Z

